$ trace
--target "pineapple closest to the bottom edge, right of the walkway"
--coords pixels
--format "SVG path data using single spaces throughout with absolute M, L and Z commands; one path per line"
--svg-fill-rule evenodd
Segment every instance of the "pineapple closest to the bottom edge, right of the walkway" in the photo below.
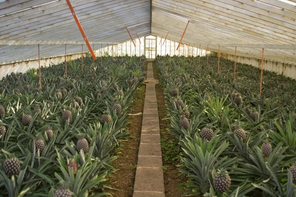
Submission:
M 213 181 L 215 191 L 224 193 L 229 190 L 230 184 L 231 179 L 226 169 L 219 169 Z

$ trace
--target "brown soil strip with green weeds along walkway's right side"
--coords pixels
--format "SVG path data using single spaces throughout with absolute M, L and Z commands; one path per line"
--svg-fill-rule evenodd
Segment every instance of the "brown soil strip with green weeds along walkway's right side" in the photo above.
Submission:
M 153 63 L 154 78 L 159 79 L 156 63 Z M 187 178 L 182 176 L 176 165 L 180 164 L 178 154 L 178 143 L 176 138 L 169 133 L 169 120 L 165 106 L 164 94 L 161 85 L 156 85 L 156 97 L 159 115 L 159 126 L 161 135 L 162 163 L 164 172 L 164 189 L 166 197 L 181 197 L 185 192 L 184 185 Z

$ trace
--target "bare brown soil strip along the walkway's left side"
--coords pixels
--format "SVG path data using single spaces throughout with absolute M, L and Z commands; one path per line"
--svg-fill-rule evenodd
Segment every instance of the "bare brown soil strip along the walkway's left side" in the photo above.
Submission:
M 130 114 L 141 113 L 141 115 L 131 116 L 128 119 L 128 130 L 130 137 L 122 140 L 117 149 L 118 158 L 112 162 L 116 171 L 108 178 L 109 187 L 115 190 L 106 190 L 113 197 L 132 197 L 134 192 L 134 183 L 136 168 L 138 162 L 138 151 L 140 145 L 140 136 L 142 129 L 143 108 L 145 99 L 146 86 L 143 84 L 136 92 L 133 99 L 133 106 L 129 111 Z

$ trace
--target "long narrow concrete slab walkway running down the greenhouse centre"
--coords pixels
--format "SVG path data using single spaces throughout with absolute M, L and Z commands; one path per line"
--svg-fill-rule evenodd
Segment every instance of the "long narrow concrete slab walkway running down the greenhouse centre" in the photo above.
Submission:
M 141 141 L 133 197 L 164 197 L 160 130 L 152 63 L 148 63 Z

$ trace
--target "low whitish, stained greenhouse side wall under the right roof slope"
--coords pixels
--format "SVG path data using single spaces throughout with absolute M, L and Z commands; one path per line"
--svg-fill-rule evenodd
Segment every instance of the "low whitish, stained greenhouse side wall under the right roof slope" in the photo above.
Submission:
M 218 53 L 215 53 L 215 56 L 218 57 Z M 234 55 L 221 53 L 221 58 L 234 61 Z M 236 57 L 237 62 L 241 64 L 248 64 L 252 65 L 254 67 L 261 68 L 261 60 L 256 58 L 248 58 L 248 57 L 242 57 L 237 56 Z M 275 71 L 278 74 L 285 75 L 287 77 L 291 77 L 293 79 L 296 79 L 296 65 L 290 65 L 290 64 L 283 64 L 279 62 L 273 62 L 273 61 L 264 61 L 263 69 L 269 70 L 269 71 Z

